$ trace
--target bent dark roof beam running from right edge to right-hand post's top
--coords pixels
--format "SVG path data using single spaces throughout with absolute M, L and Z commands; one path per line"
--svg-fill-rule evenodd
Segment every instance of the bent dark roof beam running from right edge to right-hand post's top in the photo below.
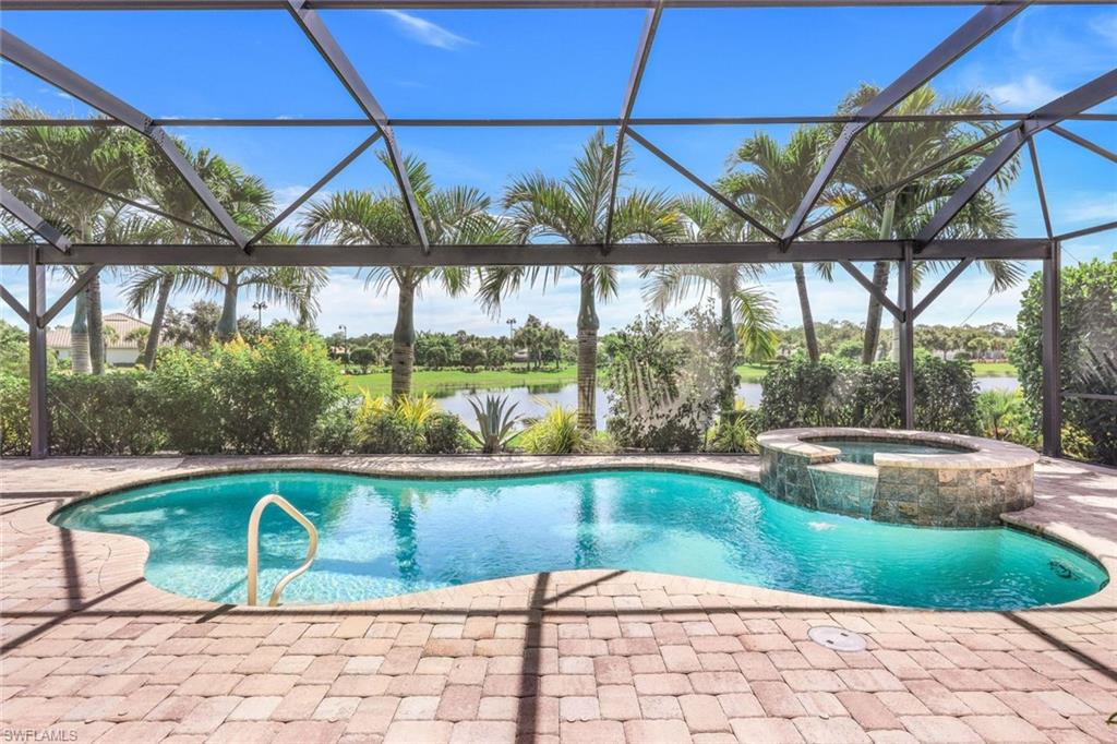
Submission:
M 990 179 L 996 175 L 1005 163 L 1024 146 L 1024 142 L 1040 132 L 1048 130 L 1068 116 L 1080 114 L 1088 108 L 1117 96 L 1117 69 L 1109 70 L 1100 77 L 1096 77 L 1086 85 L 1075 88 L 1065 96 L 1056 98 L 1051 103 L 1041 106 L 1032 112 L 1021 127 L 1005 135 L 993 152 L 984 161 L 957 191 L 943 204 L 930 221 L 919 231 L 916 237 L 918 246 L 926 246 L 938 237 L 938 233 L 949 225 L 958 212 L 965 208 L 970 201 L 977 195 L 977 192 L 985 188 Z

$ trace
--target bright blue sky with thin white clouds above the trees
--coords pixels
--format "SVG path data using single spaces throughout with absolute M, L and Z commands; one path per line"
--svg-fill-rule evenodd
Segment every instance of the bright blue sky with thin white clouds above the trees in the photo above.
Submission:
M 636 106 L 637 116 L 729 116 L 831 113 L 859 83 L 887 85 L 976 12 L 973 7 L 669 9 L 665 11 Z M 354 65 L 394 117 L 615 116 L 643 12 L 640 10 L 323 11 Z M 281 11 L 6 12 L 3 26 L 157 117 L 360 116 L 297 27 Z M 1032 7 L 944 70 L 945 94 L 987 90 L 1006 111 L 1028 111 L 1106 71 L 1117 59 L 1117 9 Z M 0 93 L 51 113 L 87 109 L 12 65 L 0 65 Z M 1117 111 L 1110 101 L 1098 112 Z M 649 126 L 642 133 L 698 175 L 715 180 L 734 144 L 753 126 Z M 761 127 L 783 140 L 791 127 Z M 1068 128 L 1117 150 L 1117 125 Z M 176 128 L 264 178 L 280 202 L 313 183 L 369 132 L 352 128 Z M 401 147 L 423 158 L 436 180 L 467 183 L 498 197 L 512 175 L 536 169 L 562 174 L 588 128 L 418 128 L 398 131 Z M 1037 140 L 1057 231 L 1117 219 L 1117 166 L 1053 134 Z M 684 192 L 688 184 L 634 150 L 630 183 Z M 388 188 L 374 152 L 328 187 Z M 1005 194 L 1021 236 L 1042 233 L 1030 173 Z M 1067 245 L 1069 263 L 1108 257 L 1114 232 Z M 1038 268 L 1038 266 L 1035 267 Z M 373 297 L 349 270 L 335 270 L 321 326 L 391 330 L 393 297 Z M 4 283 L 21 284 L 10 269 Z M 786 270 L 765 284 L 784 322 L 798 322 Z M 812 279 L 819 318 L 861 319 L 866 297 L 851 280 Z M 926 322 L 1014 318 L 1019 290 L 986 299 L 987 279 L 967 271 L 927 312 Z M 564 283 L 507 305 L 572 328 L 576 287 Z M 117 309 L 111 283 L 106 305 Z M 189 298 L 178 297 L 175 304 Z M 984 304 L 982 304 L 984 302 Z M 244 306 L 251 303 L 249 297 Z M 980 307 L 978 307 L 980 305 Z M 642 309 L 639 282 L 623 274 L 621 296 L 602 311 L 605 327 Z M 6 311 L 7 312 L 7 311 Z M 971 316 L 972 314 L 972 316 Z M 7 316 L 6 316 L 7 317 Z M 9 318 L 10 319 L 10 318 Z M 497 332 L 468 299 L 431 289 L 419 327 Z

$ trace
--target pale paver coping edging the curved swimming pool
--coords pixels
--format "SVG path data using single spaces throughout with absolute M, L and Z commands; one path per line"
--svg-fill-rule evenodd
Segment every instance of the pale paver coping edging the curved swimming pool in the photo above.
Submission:
M 64 458 L 58 458 L 64 459 Z M 144 458 L 116 458 L 126 460 L 143 460 Z M 671 455 L 671 456 L 472 456 L 469 458 L 424 458 L 408 456 L 363 456 L 363 457 L 330 457 L 330 456 L 267 456 L 267 457 L 229 457 L 229 458 L 175 458 L 179 465 L 170 470 L 155 475 L 139 475 L 124 480 L 113 483 L 101 488 L 86 489 L 79 494 L 69 492 L 68 495 L 60 496 L 61 503 L 51 508 L 46 515 L 39 517 L 49 519 L 61 508 L 71 504 L 105 496 L 120 490 L 136 488 L 142 486 L 156 485 L 174 480 L 192 479 L 216 475 L 267 473 L 283 470 L 341 473 L 353 475 L 366 475 L 373 477 L 395 477 L 395 478 L 422 478 L 422 479 L 455 479 L 476 477 L 518 477 L 553 475 L 561 473 L 593 473 L 601 470 L 660 470 L 672 473 L 689 473 L 698 475 L 710 475 L 727 477 L 752 485 L 760 485 L 760 459 L 756 456 L 703 456 L 703 455 Z M 468 462 L 468 466 L 464 464 Z M 1058 461 L 1056 461 L 1058 462 Z M 417 473 L 419 467 L 422 470 Z M 455 466 L 455 467 L 451 467 Z M 494 474 L 494 466 L 499 466 L 500 471 Z M 4 484 L 7 485 L 7 484 Z M 0 490 L 4 494 L 7 489 Z M 9 492 L 10 493 L 10 492 Z M 56 492 L 57 493 L 57 492 Z M 1058 498 L 1058 496 L 1054 496 Z M 38 512 L 38 509 L 36 509 Z M 1095 560 L 1109 575 L 1108 583 L 1100 591 L 1058 605 L 1041 605 L 1022 612 L 1042 612 L 1044 609 L 1058 607 L 1061 609 L 1090 610 L 1094 608 L 1111 608 L 1117 604 L 1117 585 L 1114 578 L 1117 576 L 1117 535 L 1097 535 L 1075 525 L 1063 522 L 1052 522 L 1044 518 L 1041 506 L 1031 507 L 1022 512 L 1004 514 L 1001 516 L 1003 524 L 1011 528 L 1021 530 L 1059 544 L 1077 550 Z M 61 531 L 61 527 L 47 522 L 52 530 Z M 144 567 L 149 556 L 147 543 L 142 538 L 122 535 L 118 533 L 87 533 L 99 538 L 109 541 L 112 545 L 118 542 L 126 550 L 113 551 L 109 559 L 112 564 L 111 573 L 117 580 L 133 581 L 142 583 L 145 590 L 155 592 L 151 597 L 161 604 L 188 603 L 188 607 L 195 610 L 211 611 L 226 607 L 217 602 L 209 602 L 194 598 L 174 594 L 166 590 L 151 584 L 144 578 Z M 104 570 L 103 570 L 104 572 Z M 551 572 L 553 576 L 564 574 L 580 574 L 577 570 Z M 858 607 L 871 607 L 888 612 L 982 612 L 984 610 L 935 610 L 927 608 L 911 608 L 906 605 L 887 605 L 872 602 L 858 602 L 851 600 L 840 600 L 827 597 L 818 597 L 786 590 L 767 589 L 751 584 L 737 584 L 733 582 L 722 582 L 707 579 L 687 578 L 674 574 L 661 574 L 650 572 L 626 572 L 640 578 L 647 585 L 678 585 L 682 582 L 688 588 L 693 588 L 695 593 L 716 593 L 726 597 L 755 598 L 763 597 L 764 601 L 774 605 L 786 605 L 796 608 L 810 608 L 821 605 L 841 605 L 850 609 Z M 305 611 L 345 612 L 346 610 L 366 610 L 379 607 L 399 607 L 402 604 L 412 605 L 422 602 L 442 601 L 443 594 L 460 597 L 462 593 L 469 595 L 480 595 L 485 593 L 485 588 L 499 582 L 522 582 L 528 578 L 540 574 L 525 574 L 523 576 L 508 576 L 483 582 L 471 582 L 459 586 L 428 590 L 424 592 L 398 594 L 390 598 L 360 600 L 354 602 L 335 602 L 324 604 L 298 604 Z M 249 608 L 247 605 L 236 605 L 238 611 L 269 612 L 271 608 Z

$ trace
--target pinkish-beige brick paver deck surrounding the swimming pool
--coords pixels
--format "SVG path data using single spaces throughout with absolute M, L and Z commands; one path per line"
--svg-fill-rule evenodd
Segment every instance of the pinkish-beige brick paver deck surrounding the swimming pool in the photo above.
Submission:
M 701 456 L 3 460 L 0 737 L 1117 742 L 1113 583 L 1059 607 L 943 612 L 562 571 L 268 610 L 170 594 L 143 580 L 142 541 L 47 522 L 73 498 L 188 474 L 602 467 L 758 473 L 754 457 Z M 1117 471 L 1044 459 L 1035 506 L 1011 519 L 1117 575 Z M 818 646 L 817 624 L 860 633 L 867 649 Z

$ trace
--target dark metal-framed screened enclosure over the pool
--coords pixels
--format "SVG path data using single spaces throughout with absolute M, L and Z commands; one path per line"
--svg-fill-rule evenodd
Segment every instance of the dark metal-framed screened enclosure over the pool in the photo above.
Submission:
M 927 86 L 965 85 L 952 77 L 963 64 L 1011 67 L 1019 55 L 1029 54 L 1029 39 L 1042 36 L 1037 26 L 1044 26 L 1049 15 L 1083 6 L 1105 3 L 7 0 L 0 21 L 6 88 L 0 124 L 8 131 L 131 130 L 159 163 L 153 171 L 157 178 L 184 194 L 176 203 L 156 203 L 113 192 L 111 183 L 87 182 L 73 168 L 82 158 L 76 151 L 56 162 L 10 149 L 0 153 L 0 199 L 7 212 L 0 261 L 27 267 L 26 302 L 16 296 L 21 292 L 2 288 L 2 295 L 29 330 L 32 457 L 48 451 L 46 330 L 106 267 L 828 263 L 848 273 L 897 321 L 900 410 L 905 427 L 914 428 L 915 324 L 963 271 L 996 259 L 1042 263 L 1042 437 L 1044 451 L 1058 456 L 1063 398 L 1114 400 L 1100 392 L 1061 390 L 1062 246 L 1113 231 L 1117 222 L 1102 214 L 1088 227 L 1060 226 L 1057 210 L 1049 208 L 1054 194 L 1044 189 L 1043 145 L 1071 147 L 1104 168 L 1117 163 L 1108 142 L 1117 127 L 1117 69 L 1081 73 L 1073 84 L 1052 90 L 1046 103 L 1015 111 L 963 96 L 946 113 L 920 107 L 915 97 Z M 513 21 L 500 27 L 498 17 Z M 418 46 L 435 61 L 388 40 L 388 25 L 420 39 Z M 695 46 L 704 34 L 710 35 L 709 44 Z M 1019 41 L 1014 35 L 1023 35 L 1024 42 L 1012 54 L 993 44 L 1006 37 Z M 478 61 L 471 77 L 447 60 L 454 50 L 474 54 Z M 1051 50 L 1035 49 L 1034 55 L 1039 65 L 1044 55 L 1057 61 Z M 239 89 L 228 85 L 230 78 Z M 858 88 L 866 80 L 875 87 Z M 811 88 L 809 82 L 821 82 L 821 87 Z M 830 83 L 838 92 L 833 97 L 805 93 L 827 89 Z M 152 94 L 155 88 L 173 93 L 178 107 L 169 108 L 166 98 Z M 842 98 L 851 92 L 856 95 Z M 44 95 L 56 96 L 56 106 L 64 101 L 67 115 L 8 103 Z M 782 141 L 792 127 L 806 124 L 821 125 L 832 136 L 813 175 L 802 187 L 787 184 L 794 189 L 793 209 L 779 219 L 764 204 L 727 194 L 717 178 L 720 164 L 699 165 L 701 159 L 693 156 L 695 143 L 714 142 L 725 132 L 744 128 Z M 881 131 L 925 133 L 945 124 L 963 127 L 966 136 L 932 162 L 901 162 L 903 153 L 870 146 Z M 462 245 L 429 233 L 421 199 L 403 166 L 414 147 L 459 159 L 500 151 L 521 159 L 507 170 L 526 172 L 538 166 L 533 156 L 563 151 L 596 128 L 617 146 L 611 149 L 603 225 L 594 239 Z M 292 192 L 278 213 L 249 231 L 228 200 L 211 192 L 181 143 L 218 150 L 239 136 L 271 149 L 280 168 L 292 152 L 274 146 L 278 132 L 292 133 L 284 141 L 287 146 L 314 153 L 321 168 L 303 181 L 309 187 Z M 389 168 L 356 175 L 370 154 Z M 832 198 L 833 184 L 855 161 L 868 158 L 888 165 L 878 171 L 890 174 L 889 180 L 865 184 L 855 197 Z M 468 174 L 481 181 L 503 177 L 488 171 L 505 163 L 489 168 L 487 160 L 475 158 Z M 1016 226 L 1020 235 L 990 237 L 961 217 L 1006 170 L 1028 174 L 1037 219 L 1021 220 L 1027 225 Z M 709 198 L 739 221 L 737 239 L 660 242 L 618 236 L 627 172 L 672 193 Z M 271 239 L 313 198 L 345 178 L 393 190 L 407 238 L 399 245 Z M 830 229 L 928 182 L 938 189 L 930 207 L 886 237 Z M 60 213 L 37 208 L 88 193 L 112 200 L 124 216 L 164 220 L 178 228 L 178 238 L 121 241 L 109 230 L 89 240 Z M 898 277 L 894 296 L 863 266 L 880 261 L 892 264 Z M 923 261 L 937 263 L 939 276 L 919 288 L 917 297 L 913 277 Z M 74 279 L 60 296 L 48 298 L 46 273 L 59 265 L 75 267 Z

